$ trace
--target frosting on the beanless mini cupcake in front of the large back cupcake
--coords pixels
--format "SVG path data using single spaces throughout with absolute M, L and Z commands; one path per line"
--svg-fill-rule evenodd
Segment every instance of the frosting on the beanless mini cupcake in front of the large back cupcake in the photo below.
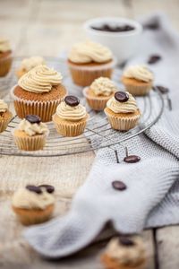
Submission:
M 117 91 L 117 88 L 115 83 L 107 77 L 99 77 L 92 82 L 90 90 L 93 91 L 96 96 L 109 96 Z

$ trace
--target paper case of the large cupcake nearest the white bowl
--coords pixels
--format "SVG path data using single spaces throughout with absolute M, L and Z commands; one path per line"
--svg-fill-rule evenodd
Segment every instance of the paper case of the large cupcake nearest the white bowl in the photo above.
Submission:
M 80 86 L 89 86 L 100 76 L 111 78 L 115 61 L 106 65 L 80 66 L 68 64 L 72 74 L 72 80 Z

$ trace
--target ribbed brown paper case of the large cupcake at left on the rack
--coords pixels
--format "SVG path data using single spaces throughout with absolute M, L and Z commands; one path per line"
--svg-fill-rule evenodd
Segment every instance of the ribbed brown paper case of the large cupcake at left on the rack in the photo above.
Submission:
M 17 116 L 21 118 L 32 114 L 40 117 L 42 122 L 51 121 L 57 106 L 62 101 L 62 99 L 48 101 L 22 100 L 13 94 L 13 89 L 11 91 L 13 105 Z

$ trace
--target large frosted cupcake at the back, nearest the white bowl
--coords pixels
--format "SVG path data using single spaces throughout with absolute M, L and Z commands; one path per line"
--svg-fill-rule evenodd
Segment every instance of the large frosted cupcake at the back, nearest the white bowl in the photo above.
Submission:
M 89 86 L 100 76 L 111 77 L 114 60 L 109 48 L 85 41 L 72 47 L 68 65 L 73 82 L 80 86 Z

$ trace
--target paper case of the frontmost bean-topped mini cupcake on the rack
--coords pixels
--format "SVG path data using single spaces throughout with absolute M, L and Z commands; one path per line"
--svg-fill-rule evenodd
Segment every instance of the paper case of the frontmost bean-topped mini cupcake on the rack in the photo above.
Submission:
M 21 151 L 39 151 L 43 150 L 46 140 L 47 134 L 37 134 L 34 136 L 21 136 L 15 135 L 13 132 L 14 143 Z

